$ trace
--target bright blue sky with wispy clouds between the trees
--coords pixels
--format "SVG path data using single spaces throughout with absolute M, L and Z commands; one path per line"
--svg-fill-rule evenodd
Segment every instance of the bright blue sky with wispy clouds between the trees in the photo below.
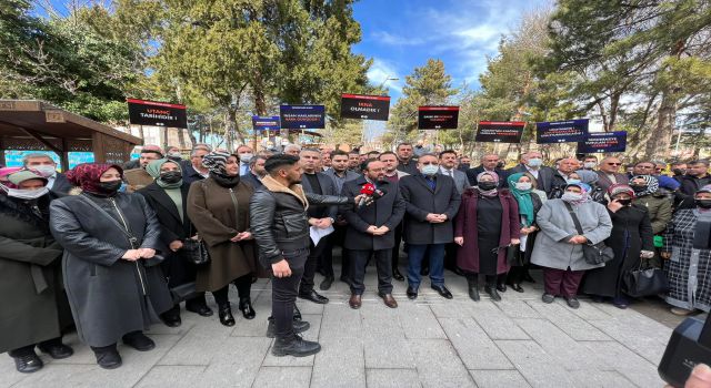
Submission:
M 495 55 L 502 34 L 521 16 L 549 0 L 360 0 L 354 17 L 362 40 L 353 51 L 374 60 L 368 72 L 380 85 L 388 78 L 390 95 L 400 96 L 404 76 L 429 58 L 444 61 L 454 86 L 479 89 L 487 55 Z

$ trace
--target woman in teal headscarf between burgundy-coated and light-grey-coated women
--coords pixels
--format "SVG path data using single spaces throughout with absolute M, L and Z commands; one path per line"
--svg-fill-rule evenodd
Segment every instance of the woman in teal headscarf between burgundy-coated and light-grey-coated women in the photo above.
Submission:
M 511 264 L 507 283 L 517 293 L 523 293 L 521 282 L 527 273 L 527 265 L 531 262 L 531 252 L 533 251 L 533 242 L 539 231 L 535 224 L 535 214 L 545 202 L 545 193 L 538 194 L 534 192 L 533 180 L 529 174 L 517 173 L 507 177 L 511 194 L 519 205 L 519 226 L 521 228 L 521 244 L 515 253 L 515 262 Z

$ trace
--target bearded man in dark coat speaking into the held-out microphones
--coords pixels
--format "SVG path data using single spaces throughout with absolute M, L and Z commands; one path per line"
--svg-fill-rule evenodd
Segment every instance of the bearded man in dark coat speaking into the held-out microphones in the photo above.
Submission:
M 351 308 L 360 308 L 361 295 L 365 290 L 365 264 L 372 255 L 378 268 L 378 295 L 385 306 L 395 308 L 398 303 L 392 297 L 391 256 L 395 243 L 394 228 L 404 215 L 405 204 L 398 183 L 385 180 L 382 162 L 371 159 L 363 162 L 361 169 L 363 176 L 346 182 L 341 195 L 354 197 L 368 183 L 375 185 L 378 195 L 368 206 L 341 206 L 341 213 L 348 221 L 346 248 L 350 249 L 351 298 L 348 303 Z

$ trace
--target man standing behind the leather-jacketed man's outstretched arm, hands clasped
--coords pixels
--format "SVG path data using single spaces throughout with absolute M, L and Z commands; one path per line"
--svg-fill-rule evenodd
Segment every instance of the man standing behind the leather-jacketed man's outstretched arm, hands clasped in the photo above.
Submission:
M 319 195 L 338 195 L 336 192 L 336 183 L 333 180 L 324 173 L 317 172 L 317 169 L 321 162 L 321 152 L 314 149 L 303 149 L 300 153 L 300 162 L 303 167 L 303 175 L 301 176 L 301 185 L 307 193 L 313 193 Z M 309 215 L 309 225 L 316 226 L 320 229 L 332 228 L 333 222 L 338 216 L 338 206 L 309 206 L 307 210 Z M 311 300 L 318 304 L 329 303 L 329 298 L 322 296 L 313 289 L 313 280 L 316 276 L 316 268 L 320 258 L 327 249 L 331 249 L 330 235 L 322 237 L 317 245 L 309 247 L 309 258 L 307 259 L 306 267 L 303 268 L 303 277 L 301 277 L 301 285 L 299 286 L 299 297 L 302 299 Z M 333 283 L 333 274 L 327 274 L 324 283 Z M 328 287 L 327 287 L 328 286 Z M 323 284 L 321 289 L 328 289 L 330 284 Z

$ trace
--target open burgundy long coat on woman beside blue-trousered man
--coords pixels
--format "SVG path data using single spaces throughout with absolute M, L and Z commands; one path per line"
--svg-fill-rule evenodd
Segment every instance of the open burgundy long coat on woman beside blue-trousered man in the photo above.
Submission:
M 501 237 L 499 246 L 507 246 L 512 238 L 521 237 L 521 216 L 519 205 L 511 192 L 502 188 L 499 191 L 501 201 L 502 219 Z M 457 252 L 457 265 L 471 273 L 479 273 L 479 232 L 477 228 L 477 203 L 479 194 L 477 188 L 468 188 L 462 193 L 462 203 L 459 213 L 454 218 L 454 237 L 464 237 L 464 245 Z M 503 274 L 509 270 L 507 263 L 507 249 L 499 251 L 497 273 Z

